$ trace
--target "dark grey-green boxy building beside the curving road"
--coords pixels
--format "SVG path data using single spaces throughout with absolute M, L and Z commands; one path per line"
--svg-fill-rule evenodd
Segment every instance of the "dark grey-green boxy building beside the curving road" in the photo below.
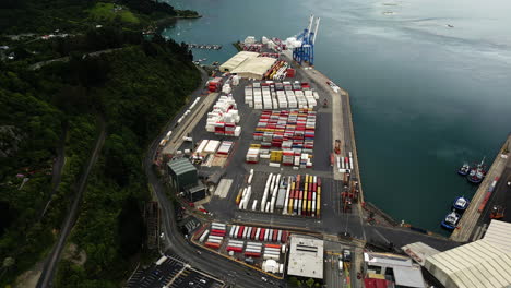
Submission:
M 170 185 L 176 191 L 181 192 L 185 189 L 197 185 L 197 168 L 187 158 L 179 158 L 167 164 Z

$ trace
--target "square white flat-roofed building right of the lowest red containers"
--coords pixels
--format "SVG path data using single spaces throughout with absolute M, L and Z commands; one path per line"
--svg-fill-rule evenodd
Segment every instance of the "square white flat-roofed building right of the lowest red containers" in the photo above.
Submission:
M 323 279 L 323 240 L 293 235 L 287 275 Z

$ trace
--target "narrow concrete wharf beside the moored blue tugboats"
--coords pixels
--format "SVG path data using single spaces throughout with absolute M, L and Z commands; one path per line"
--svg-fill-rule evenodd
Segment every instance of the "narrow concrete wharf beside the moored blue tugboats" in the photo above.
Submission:
M 451 240 L 453 241 L 459 241 L 459 242 L 467 242 L 474 232 L 474 229 L 476 228 L 476 225 L 479 223 L 479 218 L 484 215 L 485 213 L 479 213 L 479 206 L 483 203 L 486 193 L 488 192 L 489 187 L 494 182 L 496 177 L 501 177 L 502 172 L 506 169 L 507 164 L 511 163 L 509 158 L 509 152 L 511 151 L 511 135 L 508 136 L 508 140 L 506 143 L 502 145 L 500 148 L 499 153 L 497 154 L 497 157 L 494 160 L 494 164 L 491 165 L 491 168 L 489 169 L 488 173 L 485 177 L 485 180 L 480 183 L 479 188 L 477 189 L 477 192 L 475 193 L 474 197 L 471 201 L 471 205 L 465 211 L 463 214 L 460 223 L 457 224 L 457 228 L 454 229 L 454 231 L 451 235 Z M 501 181 L 509 181 L 508 179 L 499 179 L 499 182 Z M 494 193 L 491 197 L 495 196 L 497 189 L 494 190 Z M 486 204 L 485 211 L 488 209 L 490 201 Z

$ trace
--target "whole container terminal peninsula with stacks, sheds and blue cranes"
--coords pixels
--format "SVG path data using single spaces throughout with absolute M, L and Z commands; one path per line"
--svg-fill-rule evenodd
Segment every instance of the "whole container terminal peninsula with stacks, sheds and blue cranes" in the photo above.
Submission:
M 307 40 L 249 36 L 238 44 L 240 51 L 165 131 L 155 167 L 178 202 L 199 212 L 202 225 L 190 230 L 198 249 L 276 279 L 426 287 L 417 273 L 424 267 L 412 264 L 419 262 L 415 254 L 365 257 L 349 95 L 313 68 L 319 20 L 309 24 Z M 372 233 L 393 248 L 380 230 Z M 381 263 L 400 259 L 406 267 L 382 274 L 393 268 L 369 267 L 370 255 Z M 403 278 L 403 271 L 414 271 L 414 279 Z

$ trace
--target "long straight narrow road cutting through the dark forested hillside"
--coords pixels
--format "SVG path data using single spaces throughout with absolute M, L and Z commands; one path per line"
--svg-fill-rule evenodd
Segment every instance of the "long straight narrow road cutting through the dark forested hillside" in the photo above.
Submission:
M 60 260 L 60 254 L 64 247 L 66 239 L 68 238 L 69 232 L 71 231 L 71 228 L 74 226 L 74 223 L 76 220 L 78 207 L 82 199 L 83 190 L 85 189 L 85 185 L 87 183 L 88 173 L 91 172 L 92 167 L 94 166 L 97 158 L 99 157 L 99 152 L 103 147 L 103 144 L 105 143 L 106 130 L 105 130 L 105 123 L 103 122 L 103 120 L 102 120 L 100 129 L 102 129 L 102 132 L 99 133 L 99 136 L 96 141 L 96 146 L 94 147 L 91 158 L 88 159 L 88 164 L 78 182 L 76 194 L 74 196 L 71 209 L 69 211 L 68 216 L 66 217 L 66 220 L 62 225 L 62 229 L 60 230 L 59 240 L 46 260 L 45 266 L 43 268 L 43 273 L 40 274 L 39 280 L 37 281 L 37 286 L 36 286 L 37 288 L 51 287 L 54 274 L 57 267 L 57 263 Z

